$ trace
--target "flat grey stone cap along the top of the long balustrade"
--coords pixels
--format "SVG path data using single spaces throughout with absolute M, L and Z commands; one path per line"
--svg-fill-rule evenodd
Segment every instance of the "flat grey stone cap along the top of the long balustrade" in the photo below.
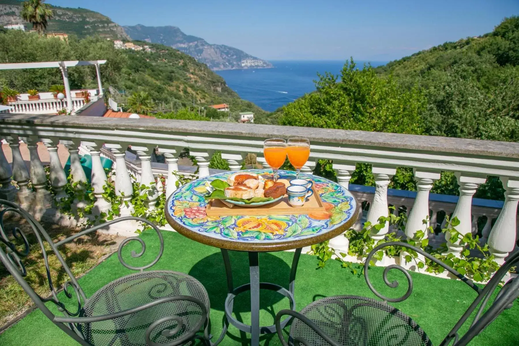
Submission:
M 266 139 L 271 137 L 307 137 L 311 142 L 336 143 L 355 146 L 387 147 L 405 150 L 435 151 L 444 153 L 501 156 L 519 158 L 519 144 L 514 142 L 484 141 L 454 137 L 438 137 L 387 132 L 368 132 L 338 129 L 275 126 L 211 122 L 201 127 L 200 121 L 175 119 L 123 119 L 103 117 L 0 114 L 0 123 L 34 123 L 56 126 L 81 126 L 90 128 L 134 129 L 159 132 L 184 132 L 225 136 L 245 136 Z

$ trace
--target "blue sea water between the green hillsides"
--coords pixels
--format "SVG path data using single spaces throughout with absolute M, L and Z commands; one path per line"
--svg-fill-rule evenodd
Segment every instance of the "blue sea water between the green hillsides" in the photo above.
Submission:
M 272 112 L 305 93 L 316 90 L 317 73 L 340 74 L 345 61 L 270 61 L 274 68 L 216 71 L 240 98 Z M 356 61 L 362 68 L 365 61 Z M 367 63 L 367 62 L 366 62 Z M 387 62 L 371 62 L 372 66 Z M 232 105 L 231 105 L 232 107 Z

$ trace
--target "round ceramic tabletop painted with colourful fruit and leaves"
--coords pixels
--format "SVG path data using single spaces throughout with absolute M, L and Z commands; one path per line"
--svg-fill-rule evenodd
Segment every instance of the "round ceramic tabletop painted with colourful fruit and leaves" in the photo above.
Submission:
M 243 173 L 272 174 L 271 170 Z M 278 171 L 281 179 L 293 179 L 295 172 Z M 239 251 L 281 251 L 309 246 L 345 232 L 358 217 L 358 203 L 344 187 L 328 179 L 300 173 L 313 181 L 326 212 L 309 215 L 265 215 L 208 217 L 206 182 L 226 180 L 225 172 L 196 179 L 181 186 L 166 202 L 168 223 L 197 242 Z M 238 207 L 238 206 L 236 206 Z

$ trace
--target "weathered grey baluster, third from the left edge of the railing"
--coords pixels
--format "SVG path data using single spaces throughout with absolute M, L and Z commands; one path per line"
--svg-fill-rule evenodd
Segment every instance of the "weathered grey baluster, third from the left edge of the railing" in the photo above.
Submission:
M 35 138 L 24 139 L 31 156 L 30 175 L 35 193 L 35 206 L 46 209 L 52 205 L 52 197 L 47 190 L 47 173 L 38 155 L 38 141 Z

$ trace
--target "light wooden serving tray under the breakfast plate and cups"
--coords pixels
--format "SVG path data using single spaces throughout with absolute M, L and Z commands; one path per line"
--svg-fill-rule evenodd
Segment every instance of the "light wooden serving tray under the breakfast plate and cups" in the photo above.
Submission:
M 278 182 L 284 183 L 286 186 L 290 186 L 290 183 L 286 179 L 279 179 Z M 313 188 L 313 195 L 310 196 L 305 205 L 301 207 L 293 207 L 289 204 L 288 196 L 284 196 L 277 202 L 257 206 L 257 207 L 242 207 L 234 205 L 228 207 L 221 200 L 211 200 L 206 207 L 207 216 L 218 217 L 218 216 L 260 216 L 260 215 L 303 215 L 303 214 L 318 214 L 326 212 L 324 209 L 321 197 L 317 190 Z

